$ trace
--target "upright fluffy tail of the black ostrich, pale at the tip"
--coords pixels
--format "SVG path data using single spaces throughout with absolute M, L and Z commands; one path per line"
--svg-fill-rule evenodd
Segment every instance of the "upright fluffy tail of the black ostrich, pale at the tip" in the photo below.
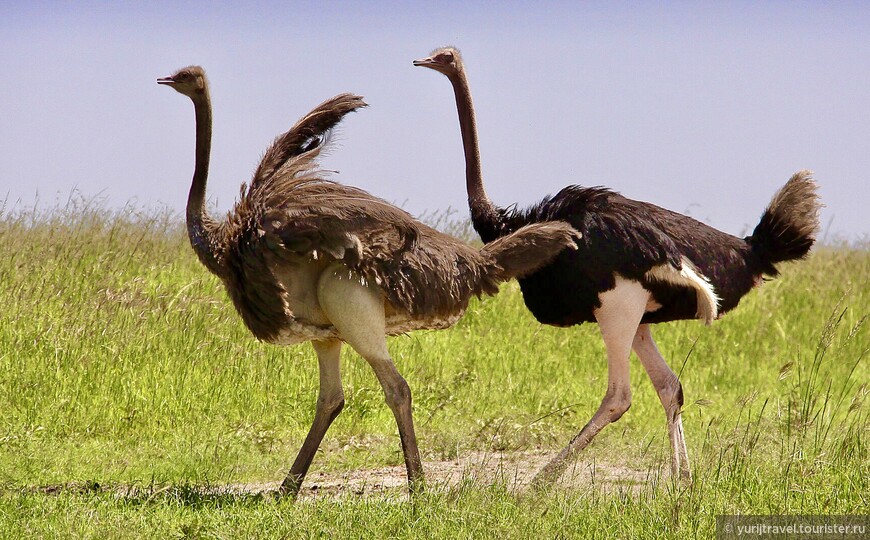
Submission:
M 771 199 L 761 221 L 746 240 L 762 272 L 779 275 L 776 263 L 802 259 L 816 241 L 822 207 L 812 171 L 795 173 Z

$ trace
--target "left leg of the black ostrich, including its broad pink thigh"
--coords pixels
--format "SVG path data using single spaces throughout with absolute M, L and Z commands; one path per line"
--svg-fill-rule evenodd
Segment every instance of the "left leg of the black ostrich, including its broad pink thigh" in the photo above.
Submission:
M 601 293 L 599 298 L 601 307 L 595 310 L 595 318 L 607 347 L 607 392 L 589 423 L 532 480 L 532 485 L 538 488 L 556 481 L 577 453 L 631 406 L 628 357 L 649 292 L 636 281 L 617 277 L 616 287 Z

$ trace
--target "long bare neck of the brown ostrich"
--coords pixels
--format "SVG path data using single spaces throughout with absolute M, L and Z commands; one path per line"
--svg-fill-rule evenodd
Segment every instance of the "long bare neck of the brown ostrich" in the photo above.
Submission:
M 187 235 L 199 260 L 220 273 L 217 253 L 217 223 L 205 210 L 205 187 L 211 157 L 211 100 L 208 88 L 191 97 L 196 113 L 196 165 L 187 196 Z

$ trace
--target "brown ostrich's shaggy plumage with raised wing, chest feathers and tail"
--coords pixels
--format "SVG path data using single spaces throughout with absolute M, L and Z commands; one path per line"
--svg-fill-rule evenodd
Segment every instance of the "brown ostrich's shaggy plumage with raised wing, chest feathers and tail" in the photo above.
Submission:
M 574 245 L 570 225 L 541 223 L 478 251 L 361 189 L 323 178 L 316 158 L 326 132 L 363 106 L 359 96 L 336 96 L 279 136 L 228 216 L 222 244 L 229 271 L 221 277 L 260 339 L 291 322 L 286 291 L 273 274 L 282 261 L 340 261 L 412 317 L 447 317 Z

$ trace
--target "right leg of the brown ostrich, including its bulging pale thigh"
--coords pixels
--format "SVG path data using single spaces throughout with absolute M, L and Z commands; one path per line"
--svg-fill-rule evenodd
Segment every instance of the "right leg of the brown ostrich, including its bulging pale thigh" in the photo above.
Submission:
M 347 267 L 336 264 L 324 271 L 317 285 L 317 297 L 344 341 L 369 363 L 378 377 L 399 427 L 408 487 L 411 492 L 417 491 L 423 480 L 423 466 L 411 415 L 411 389 L 387 350 L 383 295 L 363 284 Z

